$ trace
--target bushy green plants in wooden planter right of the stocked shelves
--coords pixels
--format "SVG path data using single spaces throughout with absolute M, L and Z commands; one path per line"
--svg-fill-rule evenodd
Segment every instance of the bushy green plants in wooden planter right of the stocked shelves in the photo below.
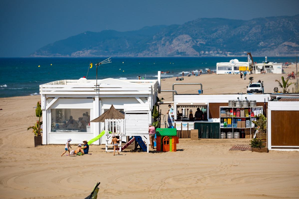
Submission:
M 267 118 L 263 114 L 259 114 L 258 116 L 256 115 L 254 117 L 257 118 L 257 121 L 252 121 L 252 123 L 257 125 L 257 128 L 255 128 L 256 138 L 253 138 L 249 145 L 252 147 L 252 151 L 269 152 L 268 148 L 263 146 L 262 141 L 262 138 L 267 136 Z

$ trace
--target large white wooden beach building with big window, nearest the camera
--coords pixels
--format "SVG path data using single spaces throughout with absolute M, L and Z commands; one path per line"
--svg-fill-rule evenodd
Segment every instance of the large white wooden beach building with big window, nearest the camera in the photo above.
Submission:
M 130 135 L 148 137 L 148 123 L 152 122 L 151 111 L 158 94 L 158 80 L 107 78 L 97 80 L 97 87 L 96 80 L 59 80 L 42 84 L 39 88 L 43 120 L 42 144 L 65 144 L 67 138 L 71 138 L 73 144 L 89 141 L 104 129 L 104 123 L 89 121 L 99 117 L 112 104 L 125 114 L 125 120 L 131 116 L 131 121 L 134 118 L 136 120 L 125 126 L 122 135 L 129 132 Z M 74 127 L 67 125 L 70 117 L 76 121 Z M 85 121 L 78 126 L 79 118 L 85 118 Z M 146 122 L 140 123 L 136 118 L 146 119 Z M 105 144 L 105 138 L 103 136 L 93 144 Z

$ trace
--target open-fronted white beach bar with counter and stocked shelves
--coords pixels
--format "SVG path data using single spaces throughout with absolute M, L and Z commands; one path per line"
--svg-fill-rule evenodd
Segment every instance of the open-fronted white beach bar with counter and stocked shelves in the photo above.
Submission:
M 252 138 L 254 126 L 251 124 L 254 115 L 264 114 L 267 109 L 270 94 L 177 94 L 174 95 L 174 115 L 175 127 L 179 138 L 190 138 L 190 131 L 198 129 L 198 138 L 221 138 L 221 132 L 233 136 L 233 132 L 242 132 L 240 138 Z M 229 106 L 229 101 L 247 101 L 248 107 Z M 249 101 L 255 101 L 254 107 L 249 107 Z M 230 104 L 231 105 L 231 104 Z M 203 112 L 203 118 L 197 120 L 194 118 L 196 109 Z M 182 110 L 183 109 L 183 110 Z M 240 110 L 239 110 L 240 109 Z M 225 110 L 225 114 L 222 111 Z M 241 112 L 249 115 L 226 115 L 226 111 Z M 179 113 L 178 113 L 179 111 Z M 191 115 L 190 115 L 191 111 Z M 224 115 L 223 115 L 224 114 Z M 232 113 L 233 114 L 233 113 Z M 191 116 L 191 117 L 190 117 Z M 230 119 L 230 120 L 229 120 Z M 240 120 L 240 126 L 236 126 L 237 119 Z M 230 126 L 223 127 L 226 120 Z M 242 122 L 242 121 L 243 122 Z M 233 122 L 235 121 L 235 126 Z M 248 122 L 249 121 L 249 122 Z M 243 124 L 243 126 L 241 126 Z M 246 126 L 247 125 L 247 126 Z M 230 134 L 231 133 L 231 134 Z M 233 138 L 233 137 L 232 137 Z

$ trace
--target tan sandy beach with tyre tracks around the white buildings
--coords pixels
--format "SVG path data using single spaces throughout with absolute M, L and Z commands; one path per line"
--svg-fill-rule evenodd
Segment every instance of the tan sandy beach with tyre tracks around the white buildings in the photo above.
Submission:
M 288 73 L 295 65 L 284 68 Z M 185 74 L 187 75 L 187 74 Z M 246 93 L 249 77 L 264 81 L 266 93 L 281 74 L 205 74 L 162 81 L 202 83 L 203 93 Z M 286 76 L 286 75 L 284 75 Z M 290 91 L 292 92 L 292 86 Z M 175 86 L 178 94 L 198 94 L 199 86 Z M 279 88 L 280 90 L 280 88 Z M 172 94 L 159 97 L 172 101 Z M 113 156 L 105 145 L 91 145 L 92 155 L 60 157 L 63 145 L 34 147 L 27 127 L 36 122 L 36 96 L 0 98 L 0 198 L 85 198 L 101 182 L 98 198 L 299 198 L 299 152 L 229 151 L 250 139 L 180 139 L 177 152 L 124 151 Z M 167 105 L 161 106 L 162 113 Z M 71 143 L 72 149 L 77 145 Z

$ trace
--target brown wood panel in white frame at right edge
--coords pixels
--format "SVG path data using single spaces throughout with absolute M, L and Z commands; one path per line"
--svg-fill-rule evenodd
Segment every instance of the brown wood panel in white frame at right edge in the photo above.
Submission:
M 299 146 L 299 111 L 271 111 L 271 145 Z

